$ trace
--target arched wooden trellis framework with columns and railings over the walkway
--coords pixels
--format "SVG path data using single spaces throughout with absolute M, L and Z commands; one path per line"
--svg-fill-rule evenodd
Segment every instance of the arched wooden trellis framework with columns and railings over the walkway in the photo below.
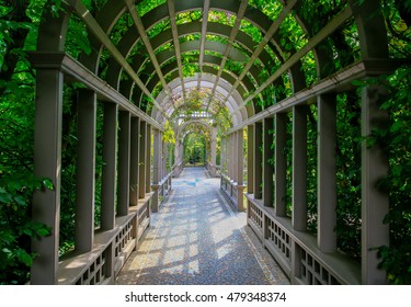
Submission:
M 33 245 L 39 257 L 33 265 L 32 283 L 114 281 L 149 225 L 151 209 L 158 209 L 159 195 L 165 195 L 171 187 L 171 174 L 164 164 L 168 150 L 162 140 L 163 127 L 187 103 L 187 93 L 193 89 L 209 92 L 209 98 L 198 105 L 198 112 L 216 116 L 218 109 L 213 103 L 217 100 L 230 113 L 232 126 L 221 144 L 221 163 L 227 166 L 221 189 L 239 211 L 248 208 L 249 225 L 292 282 L 384 283 L 385 273 L 377 268 L 378 259 L 373 250 L 388 245 L 388 226 L 383 224 L 388 198 L 375 187 L 376 181 L 387 172 L 388 163 L 378 147 L 367 148 L 364 144 L 362 149 L 359 266 L 338 253 L 334 232 L 336 94 L 352 91 L 353 80 L 387 73 L 395 67 L 388 58 L 378 1 L 365 1 L 361 5 L 354 0 L 347 1 L 318 31 L 301 14 L 304 1 L 298 0 L 270 1 L 279 8 L 273 19 L 247 0 L 169 0 L 145 14 L 140 14 L 140 2 L 107 0 L 92 14 L 82 1 L 69 0 L 64 2 L 65 11 L 58 16 L 45 14 L 37 50 L 31 55 L 37 69 L 35 172 L 50 178 L 54 190 L 34 195 L 33 218 L 53 226 L 53 235 Z M 187 12 L 197 12 L 201 18 L 184 19 Z M 369 12 L 376 13 L 369 15 Z M 219 14 L 226 14 L 227 21 L 209 18 Z M 78 58 L 65 52 L 67 27 L 75 15 L 85 24 L 92 50 Z M 114 39 L 115 25 L 123 18 L 132 21 L 129 29 L 119 39 Z M 282 26 L 286 19 L 293 19 L 304 33 L 306 38 L 299 45 L 284 35 L 286 30 Z M 163 21 L 168 21 L 164 29 L 153 35 L 151 31 Z M 344 67 L 328 69 L 340 56 L 330 37 L 347 22 L 357 27 L 361 58 Z M 261 33 L 260 42 L 248 34 L 248 24 Z M 101 57 L 107 55 L 107 66 L 102 69 Z M 307 83 L 304 65 L 307 57 L 315 60 L 318 80 L 315 83 Z M 235 64 L 240 64 L 241 69 Z M 186 68 L 193 68 L 194 73 L 185 72 Z M 61 260 L 58 230 L 62 87 L 72 79 L 87 89 L 78 98 L 76 250 Z M 380 95 L 384 90 L 377 86 L 363 89 L 364 137 L 370 135 L 377 122 L 385 121 L 386 114 L 377 107 Z M 100 229 L 94 229 L 93 220 L 96 103 L 104 104 L 105 164 Z M 313 157 L 318 167 L 317 239 L 307 234 L 307 111 L 312 104 L 318 112 L 318 157 Z M 288 117 L 293 123 L 292 136 L 286 133 Z M 175 127 L 176 132 L 179 128 Z M 247 186 L 243 179 L 246 128 Z M 214 148 L 217 133 L 212 130 Z M 288 138 L 293 140 L 290 218 L 286 216 L 284 202 L 287 177 L 282 150 Z M 175 149 L 178 167 L 181 167 L 181 148 Z M 272 158 L 274 166 L 270 162 Z M 216 164 L 214 160 L 212 164 Z

